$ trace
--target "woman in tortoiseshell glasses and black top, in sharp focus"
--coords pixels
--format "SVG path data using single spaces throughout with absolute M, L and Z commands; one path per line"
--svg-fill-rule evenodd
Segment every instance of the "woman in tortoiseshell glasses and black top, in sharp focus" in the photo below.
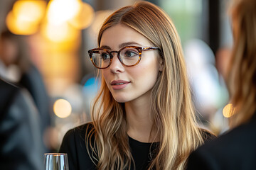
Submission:
M 183 169 L 212 135 L 196 125 L 174 24 L 140 1 L 107 18 L 98 45 L 89 51 L 102 76 L 92 123 L 70 130 L 60 147 L 70 169 Z

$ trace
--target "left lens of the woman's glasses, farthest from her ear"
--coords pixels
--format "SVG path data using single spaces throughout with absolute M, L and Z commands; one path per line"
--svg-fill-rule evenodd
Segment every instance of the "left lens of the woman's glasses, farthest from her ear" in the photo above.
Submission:
M 107 67 L 110 64 L 110 54 L 105 50 L 93 50 L 92 62 L 99 68 Z

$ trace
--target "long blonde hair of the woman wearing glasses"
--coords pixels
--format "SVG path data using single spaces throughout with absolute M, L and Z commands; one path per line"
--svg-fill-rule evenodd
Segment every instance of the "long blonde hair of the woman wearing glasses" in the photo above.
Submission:
M 149 169 L 184 169 L 188 155 L 203 143 L 196 124 L 191 92 L 186 76 L 181 42 L 170 18 L 154 4 L 139 1 L 112 13 L 98 36 L 118 23 L 137 30 L 155 47 L 163 60 L 163 71 L 151 92 L 151 118 L 159 135 L 159 147 Z M 87 135 L 87 149 L 94 147 L 92 160 L 98 169 L 129 169 L 129 150 L 124 103 L 117 103 L 102 79 L 92 106 L 94 128 Z M 95 138 L 92 140 L 92 136 Z M 92 140 L 92 142 L 91 142 Z

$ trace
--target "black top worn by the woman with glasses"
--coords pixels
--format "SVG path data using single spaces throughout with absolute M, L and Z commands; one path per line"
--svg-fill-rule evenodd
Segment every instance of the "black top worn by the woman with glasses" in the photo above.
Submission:
M 68 164 L 70 166 L 70 170 L 96 169 L 96 166 L 92 163 L 92 160 L 90 159 L 85 147 L 85 133 L 87 126 L 92 126 L 92 124 L 87 123 L 85 125 L 81 125 L 77 128 L 69 130 L 63 138 L 59 152 L 68 154 Z M 211 135 L 206 131 L 204 131 L 203 136 L 205 140 L 210 140 L 212 137 L 214 137 L 214 135 Z M 159 142 L 139 142 L 129 137 L 129 147 L 131 149 L 132 157 L 134 159 L 137 170 L 147 169 L 149 162 L 152 158 L 154 158 L 154 154 L 152 153 L 156 151 L 158 144 Z

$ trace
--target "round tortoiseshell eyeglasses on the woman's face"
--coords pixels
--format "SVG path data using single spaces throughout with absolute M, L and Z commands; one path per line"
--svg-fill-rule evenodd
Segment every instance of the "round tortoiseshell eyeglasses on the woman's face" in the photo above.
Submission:
M 112 53 L 117 53 L 117 58 L 119 61 L 127 67 L 132 67 L 139 64 L 142 59 L 142 51 L 148 50 L 158 50 L 158 47 L 122 47 L 119 51 L 109 51 L 104 48 L 94 48 L 89 50 L 90 60 L 92 64 L 98 69 L 106 69 L 110 67 L 114 55 Z

